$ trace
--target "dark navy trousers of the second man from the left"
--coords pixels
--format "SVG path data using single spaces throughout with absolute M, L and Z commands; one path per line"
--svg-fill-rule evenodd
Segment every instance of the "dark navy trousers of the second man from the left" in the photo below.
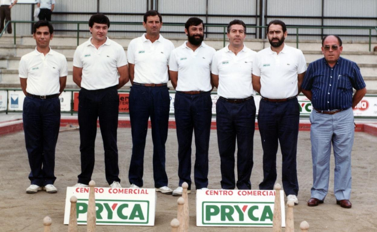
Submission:
M 109 184 L 120 182 L 118 168 L 119 97 L 116 86 L 106 89 L 87 90 L 81 88 L 78 95 L 78 124 L 80 126 L 81 174 L 78 182 L 88 184 L 94 169 L 94 146 L 97 135 L 97 118 L 105 151 L 105 174 Z

